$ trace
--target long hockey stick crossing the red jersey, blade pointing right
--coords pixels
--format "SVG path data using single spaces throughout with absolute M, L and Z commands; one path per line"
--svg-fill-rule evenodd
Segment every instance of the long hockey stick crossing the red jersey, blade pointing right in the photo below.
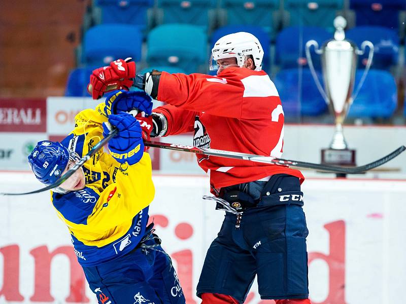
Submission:
M 400 153 L 402 153 L 406 147 L 400 146 L 392 153 L 384 156 L 383 158 L 376 160 L 372 163 L 366 164 L 364 166 L 359 167 L 339 167 L 339 166 L 331 166 L 331 165 L 323 165 L 323 164 L 315 164 L 315 163 L 307 163 L 307 162 L 300 162 L 300 161 L 292 161 L 292 160 L 285 160 L 274 158 L 270 156 L 260 156 L 260 155 L 253 155 L 253 154 L 246 154 L 246 153 L 238 153 L 232 151 L 225 151 L 225 150 L 216 150 L 210 148 L 198 148 L 194 146 L 187 146 L 182 144 L 175 144 L 175 143 L 165 143 L 165 142 L 158 142 L 158 141 L 144 141 L 144 144 L 149 147 L 155 148 L 163 148 L 163 149 L 171 149 L 171 150 L 179 150 L 185 151 L 195 154 L 202 154 L 202 155 L 212 155 L 212 156 L 219 156 L 219 157 L 226 157 L 226 158 L 233 158 L 233 159 L 241 159 L 247 160 L 257 163 L 265 163 L 265 164 L 272 164 L 272 165 L 279 165 L 279 166 L 294 166 L 299 168 L 309 168 L 309 169 L 316 169 L 320 171 L 327 171 L 333 173 L 345 173 L 345 174 L 359 174 L 370 169 L 374 169 L 379 167 L 390 160 L 397 157 Z

